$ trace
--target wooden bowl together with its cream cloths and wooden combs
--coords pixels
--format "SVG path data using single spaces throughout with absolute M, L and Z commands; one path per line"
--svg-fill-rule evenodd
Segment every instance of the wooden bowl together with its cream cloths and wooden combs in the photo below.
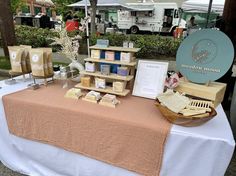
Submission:
M 157 108 L 171 123 L 181 126 L 199 126 L 216 116 L 211 101 L 189 98 L 168 89 L 157 96 Z

